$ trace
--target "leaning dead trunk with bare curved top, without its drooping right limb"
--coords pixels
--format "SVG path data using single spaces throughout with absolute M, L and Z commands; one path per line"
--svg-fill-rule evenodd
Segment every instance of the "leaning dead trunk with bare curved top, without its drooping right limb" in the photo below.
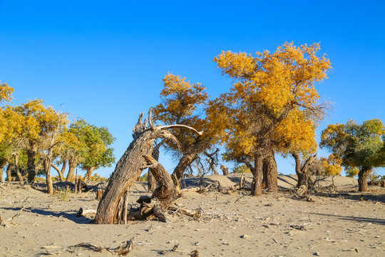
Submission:
M 116 223 L 119 202 L 123 201 L 122 197 L 127 191 L 127 188 L 134 183 L 147 166 L 147 161 L 144 156 L 150 156 L 153 152 L 153 142 L 156 138 L 167 138 L 170 141 L 178 143 L 178 146 L 180 146 L 178 139 L 175 138 L 168 129 L 188 126 L 153 126 L 150 112 L 148 115 L 149 127 L 147 126 L 146 120 L 143 124 L 143 114 L 140 114 L 138 124 L 136 124 L 133 129 L 133 141 L 116 164 L 115 171 L 113 171 L 108 181 L 106 191 L 99 202 L 94 223 Z

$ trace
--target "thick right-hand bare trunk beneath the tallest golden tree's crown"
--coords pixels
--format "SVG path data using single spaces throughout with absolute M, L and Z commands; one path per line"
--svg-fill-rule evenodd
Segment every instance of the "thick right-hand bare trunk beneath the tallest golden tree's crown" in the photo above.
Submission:
M 262 166 L 262 170 L 264 170 L 263 180 L 265 180 L 267 191 L 278 192 L 278 169 L 274 150 L 267 151 L 262 165 L 265 166 L 265 168 Z

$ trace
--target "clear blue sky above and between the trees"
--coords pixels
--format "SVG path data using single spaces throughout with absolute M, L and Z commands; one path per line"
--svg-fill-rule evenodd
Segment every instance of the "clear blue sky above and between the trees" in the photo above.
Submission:
M 138 113 L 159 103 L 168 71 L 215 97 L 231 82 L 212 61 L 220 51 L 274 51 L 285 41 L 320 42 L 332 61 L 317 89 L 334 111 L 318 135 L 348 119 L 385 121 L 384 1 L 0 0 L 0 81 L 14 87 L 14 104 L 39 98 L 107 126 L 117 159 Z M 279 158 L 279 171 L 294 173 L 293 163 Z

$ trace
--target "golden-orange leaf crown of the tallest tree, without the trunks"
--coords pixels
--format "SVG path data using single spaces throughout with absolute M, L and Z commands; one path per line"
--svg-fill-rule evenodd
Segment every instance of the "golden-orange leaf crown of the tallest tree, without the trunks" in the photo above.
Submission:
M 317 51 L 319 44 L 285 43 L 273 54 L 222 51 L 214 58 L 222 74 L 235 80 L 230 93 L 210 103 L 207 115 L 224 131 L 227 158 L 252 158 L 267 142 L 283 152 L 316 151 L 314 131 L 325 105 L 314 84 L 332 68 Z

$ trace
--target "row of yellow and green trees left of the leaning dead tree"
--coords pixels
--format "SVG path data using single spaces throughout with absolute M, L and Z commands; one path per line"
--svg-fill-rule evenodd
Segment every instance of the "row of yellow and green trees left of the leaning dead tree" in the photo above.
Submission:
M 6 83 L 0 84 L 0 181 L 4 180 L 4 168 L 6 181 L 20 183 L 31 183 L 43 173 L 52 194 L 51 168 L 58 172 L 60 181 L 73 181 L 76 167 L 83 168 L 88 181 L 97 168 L 115 162 L 111 148 L 115 138 L 106 127 L 83 119 L 70 124 L 68 114 L 40 99 L 12 106 L 13 91 Z

